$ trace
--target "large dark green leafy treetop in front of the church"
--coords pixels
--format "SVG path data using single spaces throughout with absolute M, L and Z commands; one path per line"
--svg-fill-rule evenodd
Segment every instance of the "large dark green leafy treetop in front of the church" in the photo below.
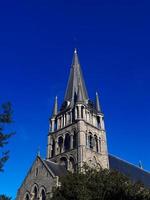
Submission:
M 107 169 L 86 166 L 84 172 L 68 172 L 60 182 L 61 186 L 53 189 L 51 200 L 150 200 L 149 189 Z

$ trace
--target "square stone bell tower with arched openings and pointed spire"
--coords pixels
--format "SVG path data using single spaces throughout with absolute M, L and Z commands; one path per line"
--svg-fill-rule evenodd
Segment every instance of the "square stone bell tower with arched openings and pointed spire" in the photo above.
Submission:
M 70 171 L 90 166 L 109 168 L 104 115 L 98 93 L 89 97 L 75 49 L 64 102 L 58 109 L 55 98 L 48 134 L 47 160 Z

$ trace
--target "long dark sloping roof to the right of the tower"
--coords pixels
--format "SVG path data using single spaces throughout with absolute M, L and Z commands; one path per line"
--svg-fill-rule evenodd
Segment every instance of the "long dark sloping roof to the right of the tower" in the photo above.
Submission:
M 150 173 L 109 154 L 109 165 L 110 169 L 119 171 L 120 173 L 128 176 L 134 182 L 140 181 L 146 187 L 150 187 Z

